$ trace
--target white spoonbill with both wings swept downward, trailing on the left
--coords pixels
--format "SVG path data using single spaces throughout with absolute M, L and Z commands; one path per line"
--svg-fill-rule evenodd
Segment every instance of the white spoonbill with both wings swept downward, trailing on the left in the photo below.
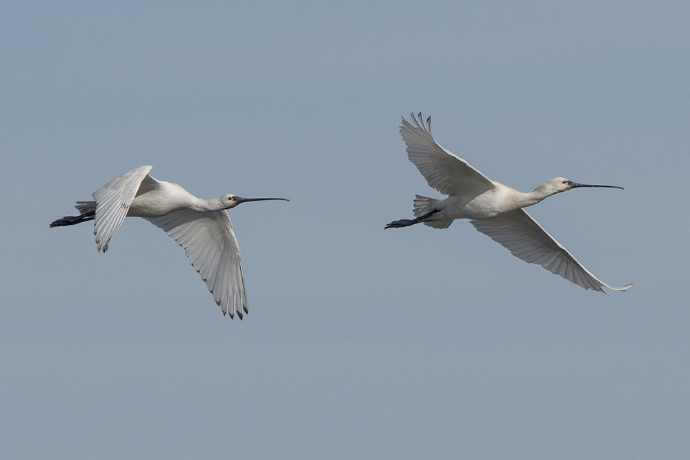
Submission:
M 177 183 L 154 179 L 148 174 L 152 168 L 141 166 L 112 179 L 91 194 L 95 201 L 77 201 L 79 216 L 57 219 L 50 227 L 94 220 L 98 250 L 106 252 L 125 217 L 143 217 L 184 248 L 223 315 L 228 313 L 234 318 L 237 313 L 242 319 L 248 312 L 242 259 L 226 210 L 247 201 L 290 200 L 242 198 L 234 194 L 201 199 Z

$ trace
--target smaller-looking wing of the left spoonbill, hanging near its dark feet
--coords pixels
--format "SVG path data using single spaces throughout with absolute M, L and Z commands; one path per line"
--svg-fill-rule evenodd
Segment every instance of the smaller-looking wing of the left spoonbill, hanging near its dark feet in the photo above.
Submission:
M 124 221 L 141 181 L 152 169 L 153 166 L 141 166 L 125 172 L 91 194 L 96 201 L 93 234 L 99 252 L 108 250 L 108 243 Z

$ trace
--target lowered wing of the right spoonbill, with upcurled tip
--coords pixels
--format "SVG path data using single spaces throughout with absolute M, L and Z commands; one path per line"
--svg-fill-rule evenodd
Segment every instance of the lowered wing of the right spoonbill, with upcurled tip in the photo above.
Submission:
M 633 286 L 631 283 L 614 288 L 595 277 L 523 209 L 505 212 L 493 219 L 471 220 L 470 222 L 493 241 L 508 248 L 518 259 L 538 263 L 546 270 L 585 289 L 604 292 L 602 289 L 604 286 L 623 291 Z

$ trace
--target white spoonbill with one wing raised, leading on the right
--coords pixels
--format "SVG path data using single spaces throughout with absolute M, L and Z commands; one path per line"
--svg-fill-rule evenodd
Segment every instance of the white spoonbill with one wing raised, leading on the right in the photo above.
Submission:
M 426 126 L 421 112 L 418 119 L 414 114 L 411 117 L 414 126 L 404 118 L 400 126 L 408 158 L 429 186 L 449 197 L 433 199 L 417 195 L 413 210 L 415 219 L 393 221 L 385 228 L 407 227 L 415 223 L 448 228 L 455 219 L 470 219 L 477 230 L 510 250 L 515 257 L 538 263 L 582 288 L 604 292 L 602 286 L 617 291 L 633 286 L 630 283 L 615 288 L 595 277 L 523 209 L 572 188 L 622 187 L 593 186 L 556 177 L 542 183 L 533 192 L 518 192 L 492 181 L 464 159 L 440 146 L 431 137 L 431 117 L 426 119 Z

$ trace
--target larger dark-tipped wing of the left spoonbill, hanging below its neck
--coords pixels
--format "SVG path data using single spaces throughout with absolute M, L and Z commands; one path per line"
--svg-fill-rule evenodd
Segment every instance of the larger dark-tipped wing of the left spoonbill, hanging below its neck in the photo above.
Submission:
M 179 210 L 146 220 L 165 230 L 184 248 L 223 314 L 233 318 L 237 313 L 242 319 L 248 312 L 247 295 L 239 245 L 228 212 Z

